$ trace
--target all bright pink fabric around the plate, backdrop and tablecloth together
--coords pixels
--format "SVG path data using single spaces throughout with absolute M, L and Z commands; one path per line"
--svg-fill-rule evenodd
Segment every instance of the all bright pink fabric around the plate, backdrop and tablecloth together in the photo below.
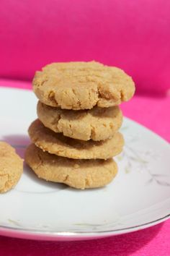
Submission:
M 52 61 L 95 59 L 132 75 L 137 93 L 125 116 L 170 141 L 170 1 L 1 0 L 0 85 L 31 88 Z M 14 80 L 14 79 L 17 79 Z M 170 221 L 88 242 L 36 242 L 0 236 L 0 256 L 170 255 Z

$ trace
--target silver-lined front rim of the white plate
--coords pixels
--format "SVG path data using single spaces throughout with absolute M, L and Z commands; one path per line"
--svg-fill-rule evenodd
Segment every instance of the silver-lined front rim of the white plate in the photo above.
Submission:
M 156 224 L 163 223 L 170 219 L 170 213 L 164 217 L 158 218 L 154 221 L 142 223 L 136 226 L 130 226 L 122 229 L 113 229 L 110 231 L 40 231 L 36 229 L 18 229 L 14 227 L 6 227 L 0 225 L 0 235 L 12 236 L 22 239 L 33 239 L 33 240 L 85 240 L 85 239 L 97 239 L 107 236 L 116 236 L 120 234 L 128 234 L 134 231 L 147 229 Z M 3 234 L 4 233 L 4 234 Z

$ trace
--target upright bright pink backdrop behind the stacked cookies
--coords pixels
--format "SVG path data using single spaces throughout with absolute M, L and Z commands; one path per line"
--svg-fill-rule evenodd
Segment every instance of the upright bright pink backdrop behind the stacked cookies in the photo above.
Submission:
M 53 61 L 95 59 L 125 69 L 139 91 L 164 93 L 169 0 L 1 0 L 0 77 L 32 79 Z

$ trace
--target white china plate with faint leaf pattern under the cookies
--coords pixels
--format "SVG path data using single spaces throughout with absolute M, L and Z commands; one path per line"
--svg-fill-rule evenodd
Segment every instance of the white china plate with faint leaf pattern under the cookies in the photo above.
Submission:
M 0 88 L 0 140 L 20 155 L 36 118 L 35 95 Z M 119 173 L 102 189 L 71 189 L 37 179 L 24 166 L 17 186 L 0 195 L 0 234 L 30 239 L 76 240 L 125 234 L 161 223 L 170 216 L 170 147 L 130 119 L 122 126 L 125 149 Z

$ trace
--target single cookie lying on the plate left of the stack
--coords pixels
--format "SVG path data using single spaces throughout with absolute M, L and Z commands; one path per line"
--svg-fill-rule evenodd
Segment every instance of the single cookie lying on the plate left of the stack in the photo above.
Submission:
M 0 193 L 12 189 L 23 171 L 22 158 L 6 142 L 0 142 Z

